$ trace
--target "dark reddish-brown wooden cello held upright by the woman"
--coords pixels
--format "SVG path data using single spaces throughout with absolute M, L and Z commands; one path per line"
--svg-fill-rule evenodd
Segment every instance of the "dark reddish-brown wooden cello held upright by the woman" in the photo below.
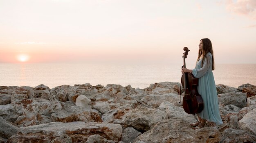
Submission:
M 185 51 L 183 53 L 183 66 L 182 68 L 186 68 L 186 57 L 188 55 L 188 52 L 190 51 L 189 48 L 184 47 L 183 50 Z M 182 73 L 181 82 L 180 82 L 180 89 L 181 85 L 184 88 L 184 97 L 182 100 L 182 106 L 186 113 L 193 114 L 200 113 L 203 108 L 203 100 L 201 95 L 198 93 L 198 78 L 195 78 L 195 76 L 192 73 Z M 180 91 L 181 96 L 181 91 Z

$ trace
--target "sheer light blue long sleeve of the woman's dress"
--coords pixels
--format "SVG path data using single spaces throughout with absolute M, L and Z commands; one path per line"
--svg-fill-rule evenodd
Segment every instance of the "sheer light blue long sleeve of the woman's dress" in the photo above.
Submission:
M 208 53 L 204 59 L 204 63 L 203 66 L 199 69 L 192 69 L 192 74 L 195 76 L 195 78 L 200 78 L 202 76 L 204 76 L 204 74 L 207 72 L 207 70 L 209 69 L 210 65 L 212 62 L 212 55 L 211 53 Z

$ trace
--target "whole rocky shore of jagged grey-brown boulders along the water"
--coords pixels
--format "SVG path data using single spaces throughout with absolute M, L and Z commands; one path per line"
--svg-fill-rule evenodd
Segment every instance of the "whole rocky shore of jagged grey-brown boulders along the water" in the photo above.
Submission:
M 0 143 L 255 143 L 256 86 L 217 85 L 223 125 L 195 129 L 180 83 L 0 86 Z M 182 99 L 181 99 L 182 100 Z

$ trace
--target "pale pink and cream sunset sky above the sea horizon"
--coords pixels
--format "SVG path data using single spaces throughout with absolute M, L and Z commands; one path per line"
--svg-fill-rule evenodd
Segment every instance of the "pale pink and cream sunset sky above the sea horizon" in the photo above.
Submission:
M 0 63 L 256 63 L 256 0 L 0 0 Z

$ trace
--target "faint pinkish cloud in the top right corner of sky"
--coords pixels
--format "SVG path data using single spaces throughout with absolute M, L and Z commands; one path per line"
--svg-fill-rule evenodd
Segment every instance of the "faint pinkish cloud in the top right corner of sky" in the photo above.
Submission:
M 256 20 L 256 0 L 227 0 L 227 9 Z

